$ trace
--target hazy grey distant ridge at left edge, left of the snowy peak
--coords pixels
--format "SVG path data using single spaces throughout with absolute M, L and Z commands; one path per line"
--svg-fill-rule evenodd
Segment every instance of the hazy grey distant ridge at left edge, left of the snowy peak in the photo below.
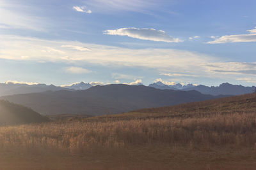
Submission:
M 45 92 L 48 90 L 58 91 L 70 89 L 45 84 L 28 85 L 25 83 L 0 83 L 0 96 Z

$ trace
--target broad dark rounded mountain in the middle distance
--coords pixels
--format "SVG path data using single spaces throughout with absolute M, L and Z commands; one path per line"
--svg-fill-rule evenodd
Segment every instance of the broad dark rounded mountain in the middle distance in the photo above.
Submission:
M 218 96 L 223 97 L 223 96 Z M 217 97 L 195 90 L 159 90 L 143 85 L 105 85 L 79 91 L 48 91 L 1 97 L 13 103 L 33 108 L 44 115 L 123 113 L 140 108 L 171 106 Z

